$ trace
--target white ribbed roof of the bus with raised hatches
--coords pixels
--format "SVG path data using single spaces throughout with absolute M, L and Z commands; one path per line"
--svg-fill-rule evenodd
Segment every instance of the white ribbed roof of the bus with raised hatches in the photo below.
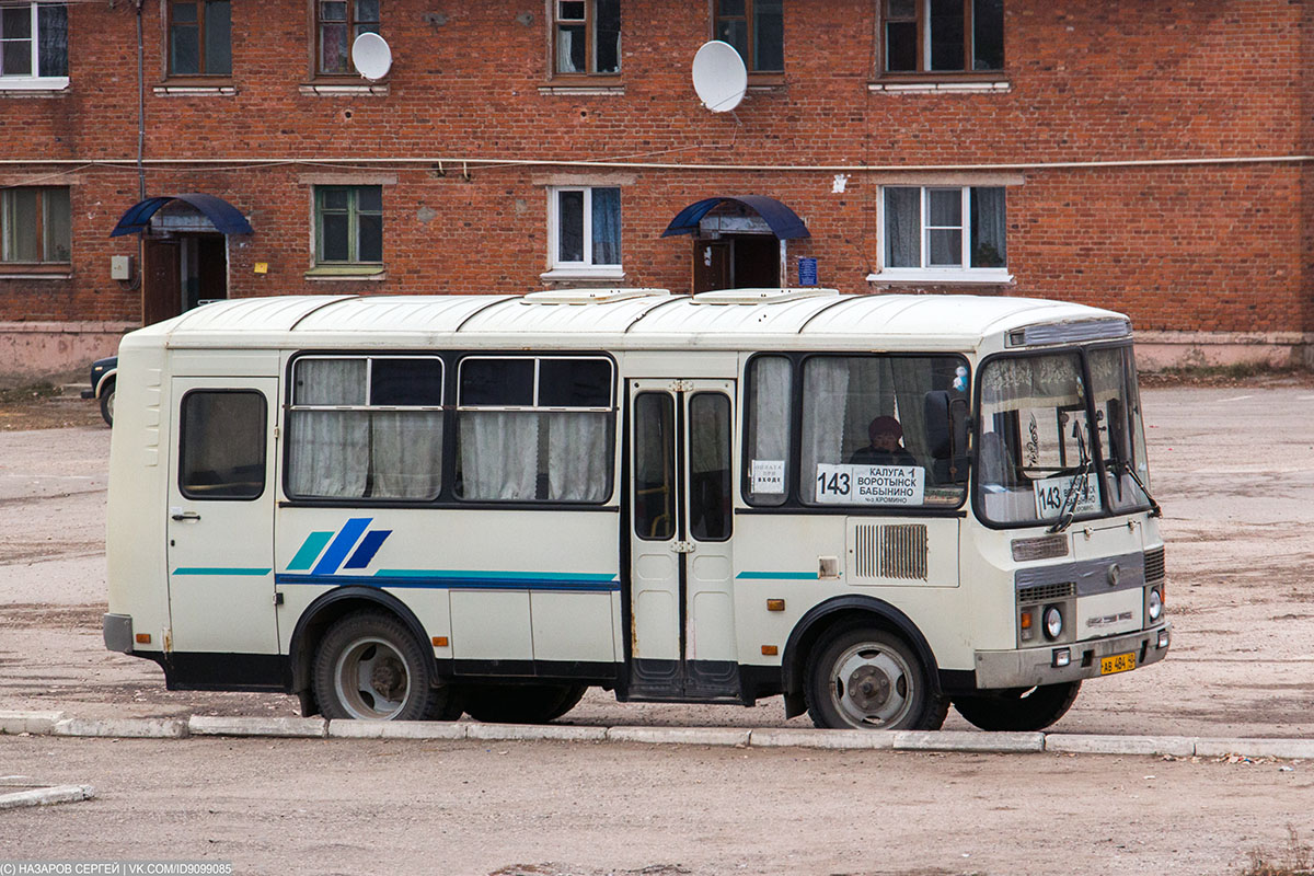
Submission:
M 1054 331 L 1063 326 L 1095 331 Z M 172 348 L 859 348 L 968 351 L 1049 327 L 1031 343 L 1130 338 L 1122 314 L 983 296 L 841 296 L 832 289 L 556 290 L 528 296 L 283 296 L 217 301 L 133 334 Z M 532 341 L 531 341 L 532 339 Z

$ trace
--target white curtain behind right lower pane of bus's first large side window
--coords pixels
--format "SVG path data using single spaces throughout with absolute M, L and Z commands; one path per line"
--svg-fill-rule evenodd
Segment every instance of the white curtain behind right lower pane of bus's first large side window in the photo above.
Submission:
M 438 496 L 443 471 L 442 411 L 374 411 L 371 419 L 371 443 L 372 496 Z

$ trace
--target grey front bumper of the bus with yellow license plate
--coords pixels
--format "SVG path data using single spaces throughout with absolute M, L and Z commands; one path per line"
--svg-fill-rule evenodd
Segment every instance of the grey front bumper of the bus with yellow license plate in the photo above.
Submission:
M 1164 623 L 1150 629 L 1110 638 L 1067 642 L 1047 647 L 1026 647 L 1012 651 L 976 651 L 978 690 L 1009 687 L 1035 687 L 1079 682 L 1100 675 L 1112 675 L 1101 661 L 1106 657 L 1134 655 L 1135 668 L 1158 663 L 1168 654 L 1172 624 Z M 1067 663 L 1063 663 L 1066 651 Z M 1133 668 L 1126 661 L 1126 665 Z

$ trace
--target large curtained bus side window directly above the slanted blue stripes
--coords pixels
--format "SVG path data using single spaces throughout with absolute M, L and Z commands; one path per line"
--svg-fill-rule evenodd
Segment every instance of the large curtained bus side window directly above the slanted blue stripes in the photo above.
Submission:
M 286 494 L 296 499 L 438 496 L 443 360 L 306 356 L 292 366 Z

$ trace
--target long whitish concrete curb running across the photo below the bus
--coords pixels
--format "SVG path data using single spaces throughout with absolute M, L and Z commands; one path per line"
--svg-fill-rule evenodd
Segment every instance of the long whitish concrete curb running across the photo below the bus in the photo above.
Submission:
M 1314 739 L 1101 735 L 1087 733 L 984 733 L 972 730 L 817 730 L 811 728 L 579 726 L 480 724 L 477 721 L 327 721 L 193 714 L 188 718 L 68 718 L 63 712 L 0 711 L 0 734 L 185 738 L 188 735 L 311 739 L 480 739 L 485 742 L 628 742 L 836 751 L 943 751 L 972 754 L 1114 754 L 1173 758 L 1276 758 L 1314 760 Z M 74 785 L 68 785 L 74 787 Z M 26 792 L 24 792 L 26 793 Z M 28 805 L 28 804 L 22 804 Z

